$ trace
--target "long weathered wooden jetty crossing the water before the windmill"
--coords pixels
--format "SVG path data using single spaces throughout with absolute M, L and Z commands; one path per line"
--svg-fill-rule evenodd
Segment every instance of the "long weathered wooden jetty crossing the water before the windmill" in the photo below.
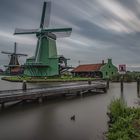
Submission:
M 83 83 L 76 85 L 64 85 L 64 86 L 56 86 L 56 87 L 45 87 L 45 88 L 31 88 L 27 90 L 4 90 L 0 91 L 0 104 L 1 107 L 4 108 L 5 103 L 15 102 L 15 101 L 26 101 L 26 100 L 36 100 L 39 102 L 42 101 L 43 98 L 47 96 L 53 95 L 81 95 L 85 92 L 90 91 L 99 91 L 106 92 L 107 86 L 103 82 L 96 83 Z

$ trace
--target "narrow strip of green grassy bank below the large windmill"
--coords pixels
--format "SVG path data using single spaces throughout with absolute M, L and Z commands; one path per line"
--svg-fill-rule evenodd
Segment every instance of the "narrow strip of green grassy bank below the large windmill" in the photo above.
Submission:
M 57 77 L 57 78 L 40 78 L 40 77 L 24 77 L 24 76 L 10 76 L 2 77 L 2 80 L 10 82 L 23 82 L 26 80 L 29 83 L 38 83 L 38 82 L 76 82 L 76 81 L 89 81 L 96 80 L 95 78 L 77 78 L 77 77 Z

